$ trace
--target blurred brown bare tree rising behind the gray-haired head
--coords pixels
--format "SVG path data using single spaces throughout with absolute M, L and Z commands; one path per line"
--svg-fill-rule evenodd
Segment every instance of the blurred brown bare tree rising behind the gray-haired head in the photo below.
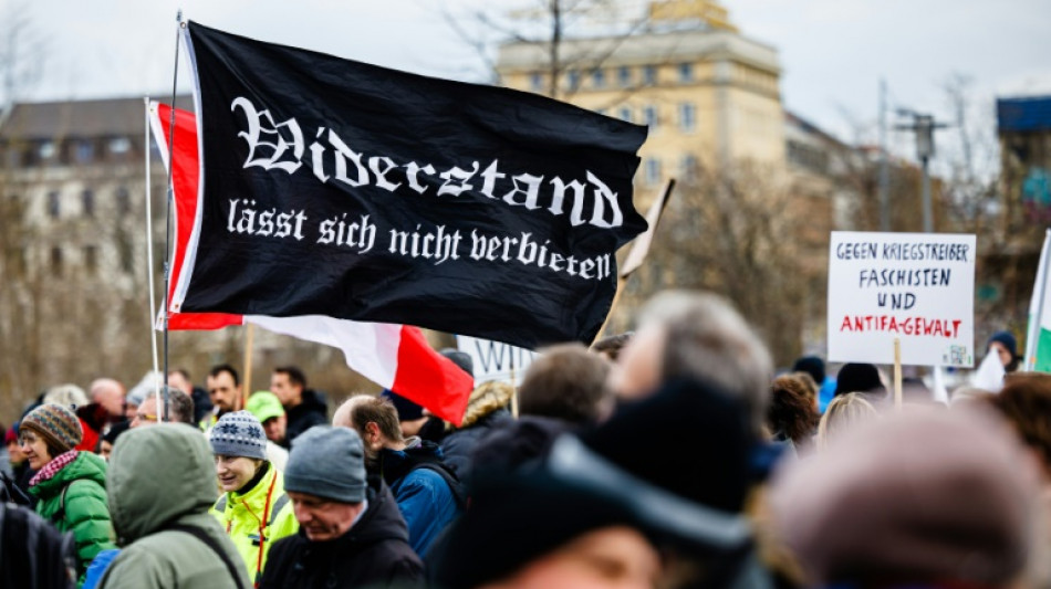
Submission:
M 805 214 L 783 170 L 750 161 L 699 170 L 676 185 L 622 306 L 638 308 L 663 288 L 718 293 L 757 327 L 777 361 L 790 362 L 800 353 L 808 298 L 822 292 L 797 239 Z M 627 317 L 618 317 L 615 328 L 626 327 Z

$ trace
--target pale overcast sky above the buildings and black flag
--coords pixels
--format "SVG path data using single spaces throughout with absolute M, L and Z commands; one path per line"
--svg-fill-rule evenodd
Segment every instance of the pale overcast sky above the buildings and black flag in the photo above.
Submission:
M 481 81 L 476 53 L 439 17 L 472 0 L 0 0 L 0 18 L 29 19 L 43 41 L 43 75 L 30 98 L 170 93 L 175 19 L 282 44 Z M 478 4 L 479 2 L 475 2 Z M 490 0 L 508 8 L 521 2 Z M 944 81 L 974 80 L 977 119 L 991 126 L 997 95 L 1051 94 L 1048 0 L 725 0 L 741 32 L 773 45 L 787 108 L 854 139 L 873 140 L 878 81 L 894 106 L 949 118 Z M 470 24 L 468 24 L 470 28 Z M 185 56 L 183 56 L 185 57 Z M 180 60 L 185 60 L 180 57 Z M 184 81 L 186 70 L 180 74 Z M 188 86 L 186 86 L 188 87 Z M 896 134 L 898 144 L 910 138 Z

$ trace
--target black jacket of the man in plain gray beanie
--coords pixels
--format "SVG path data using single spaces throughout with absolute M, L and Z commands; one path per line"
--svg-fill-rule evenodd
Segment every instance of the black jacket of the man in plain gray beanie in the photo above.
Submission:
M 262 589 L 415 587 L 424 566 L 408 545 L 397 503 L 378 477 L 368 481 L 368 508 L 346 534 L 311 541 L 301 528 L 270 549 Z

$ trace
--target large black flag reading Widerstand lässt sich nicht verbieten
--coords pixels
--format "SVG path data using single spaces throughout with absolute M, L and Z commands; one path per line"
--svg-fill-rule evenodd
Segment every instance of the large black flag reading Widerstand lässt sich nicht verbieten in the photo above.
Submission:
M 201 186 L 176 312 L 590 341 L 644 127 L 190 22 Z

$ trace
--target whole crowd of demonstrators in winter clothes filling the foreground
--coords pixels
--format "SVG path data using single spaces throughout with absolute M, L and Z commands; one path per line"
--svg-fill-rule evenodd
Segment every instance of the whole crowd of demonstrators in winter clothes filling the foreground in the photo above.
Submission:
M 0 583 L 1051 587 L 1051 375 L 987 348 L 999 390 L 897 407 L 878 367 L 778 370 L 729 303 L 667 292 L 478 382 L 459 425 L 391 390 L 330 407 L 295 367 L 54 387 L 4 438 Z

